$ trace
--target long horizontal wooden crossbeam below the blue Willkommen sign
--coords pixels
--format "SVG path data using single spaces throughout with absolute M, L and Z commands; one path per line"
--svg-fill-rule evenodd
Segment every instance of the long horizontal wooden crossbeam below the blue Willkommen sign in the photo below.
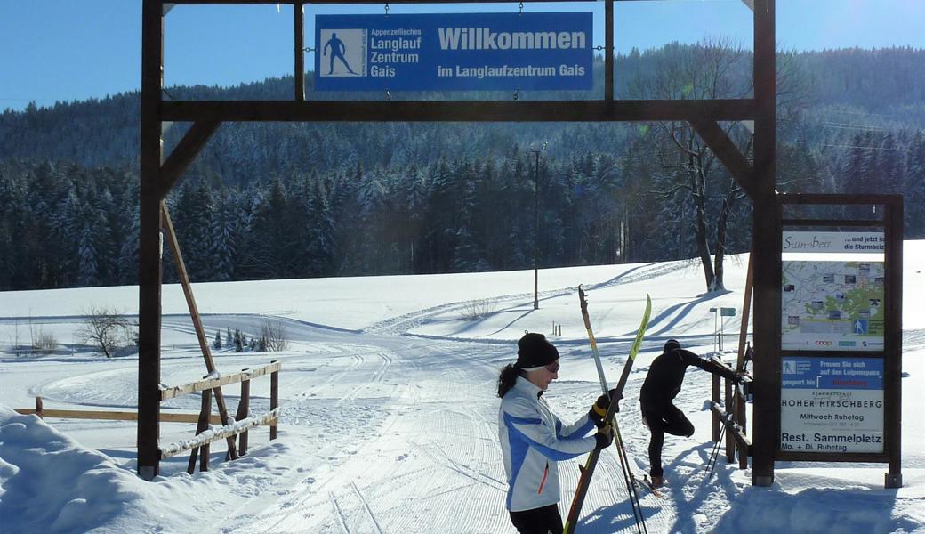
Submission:
M 535 101 L 170 101 L 162 118 L 240 122 L 602 122 L 632 120 L 746 120 L 755 101 L 730 100 L 535 100 Z

